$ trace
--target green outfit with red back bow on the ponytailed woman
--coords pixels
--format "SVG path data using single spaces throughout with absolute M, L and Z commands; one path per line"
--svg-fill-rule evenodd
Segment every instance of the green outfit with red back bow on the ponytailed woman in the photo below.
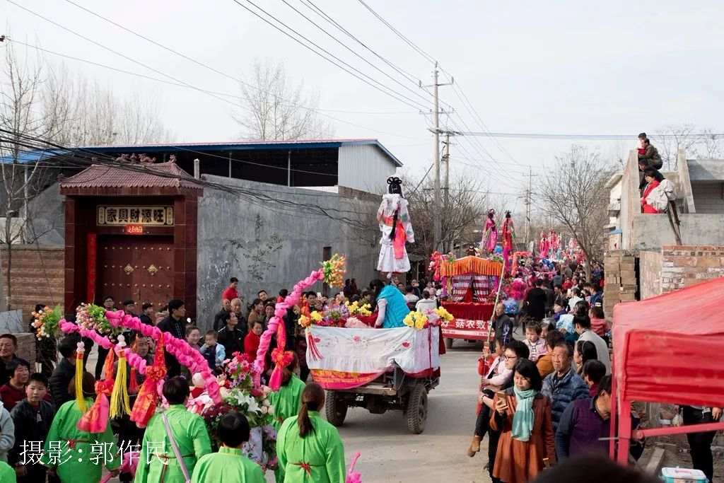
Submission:
M 345 483 L 345 447 L 337 428 L 309 411 L 314 432 L 300 437 L 297 417 L 284 421 L 277 437 L 282 481 Z

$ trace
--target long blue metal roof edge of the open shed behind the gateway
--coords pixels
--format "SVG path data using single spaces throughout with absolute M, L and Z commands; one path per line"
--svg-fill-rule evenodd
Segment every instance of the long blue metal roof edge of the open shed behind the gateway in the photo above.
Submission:
M 70 154 L 72 151 L 92 151 L 98 154 L 134 152 L 137 154 L 151 154 L 163 151 L 247 151 L 261 149 L 313 149 L 313 148 L 340 148 L 342 146 L 374 145 L 387 156 L 395 166 L 402 167 L 395 155 L 390 153 L 382 143 L 376 139 L 311 139 L 311 140 L 282 140 L 282 141 L 232 141 L 227 143 L 169 143 L 169 144 L 130 144 L 119 146 L 80 146 L 70 148 L 69 151 L 33 151 L 22 153 L 18 159 L 20 162 L 35 162 L 41 159 L 48 159 L 59 154 Z M 0 162 L 12 162 L 8 156 L 0 158 Z

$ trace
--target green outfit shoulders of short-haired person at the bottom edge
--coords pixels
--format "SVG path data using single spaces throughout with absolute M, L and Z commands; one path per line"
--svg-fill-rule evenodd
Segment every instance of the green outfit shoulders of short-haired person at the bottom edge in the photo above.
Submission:
M 202 456 L 193 469 L 191 483 L 264 483 L 264 471 L 242 454 L 241 448 L 222 446 L 219 453 Z

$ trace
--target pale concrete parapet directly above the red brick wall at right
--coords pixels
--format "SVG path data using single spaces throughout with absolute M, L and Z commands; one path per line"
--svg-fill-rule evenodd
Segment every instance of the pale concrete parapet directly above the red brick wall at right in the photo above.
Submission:
M 684 245 L 724 244 L 724 214 L 679 214 L 681 241 Z M 627 248 L 647 250 L 662 245 L 675 245 L 673 229 L 668 216 L 662 214 L 636 214 L 633 217 L 633 235 Z

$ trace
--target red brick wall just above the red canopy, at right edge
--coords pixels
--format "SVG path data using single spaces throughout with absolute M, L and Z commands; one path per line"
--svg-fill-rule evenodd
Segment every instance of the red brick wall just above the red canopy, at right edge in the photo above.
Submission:
M 661 292 L 724 277 L 724 246 L 664 245 Z

